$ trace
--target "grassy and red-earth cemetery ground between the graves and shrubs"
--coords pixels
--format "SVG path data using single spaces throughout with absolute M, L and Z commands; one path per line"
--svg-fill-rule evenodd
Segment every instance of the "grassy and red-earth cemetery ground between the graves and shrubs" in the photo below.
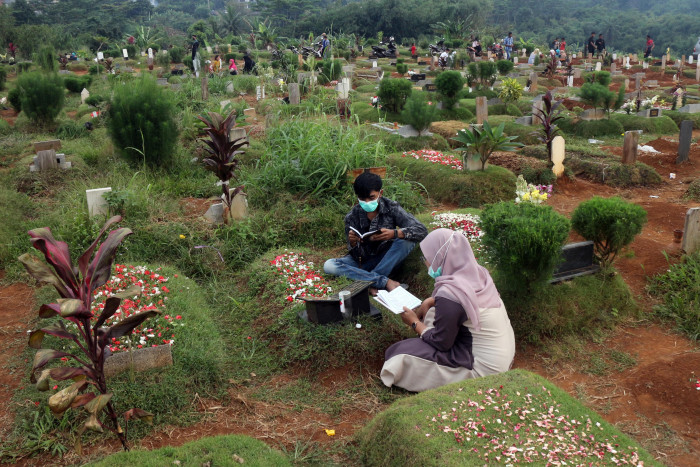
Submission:
M 380 65 L 385 71 L 393 72 L 395 67 L 387 62 L 381 60 Z M 363 66 L 369 68 L 363 61 L 356 64 L 357 68 Z M 614 78 L 611 89 L 619 86 L 624 76 L 638 71 L 641 71 L 639 65 L 624 70 L 622 79 Z M 234 80 L 234 86 L 248 79 L 240 78 Z M 525 81 L 523 77 L 518 79 Z M 660 88 L 672 84 L 672 74 L 662 74 L 658 68 L 648 72 L 646 79 L 656 79 Z M 12 80 L 11 76 L 10 85 Z M 55 133 L 51 129 L 33 128 L 23 114 L 3 111 L 0 115 L 11 126 L 3 134 L 4 144 L 0 148 L 0 197 L 4 211 L 0 234 L 11 238 L 2 251 L 5 270 L 0 289 L 0 349 L 6 356 L 0 373 L 3 401 L 0 436 L 9 440 L 0 449 L 2 460 L 18 465 L 73 465 L 99 460 L 120 450 L 116 439 L 101 442 L 100 438 L 85 435 L 84 455 L 77 456 L 71 434 L 77 427 L 76 418 L 69 415 L 55 420 L 48 413 L 45 395 L 29 384 L 34 351 L 27 348 L 27 330 L 37 327 L 38 306 L 48 303 L 53 296 L 48 287 L 28 282 L 19 264 L 7 260 L 11 255 L 16 257 L 29 251 L 24 234 L 27 229 L 45 225 L 66 239 L 74 254 L 89 245 L 99 225 L 86 215 L 84 191 L 111 186 L 123 197 L 121 205 L 118 196 L 113 198 L 116 201 L 111 208 L 120 210 L 124 215 L 121 225 L 135 232 L 120 251 L 117 262 L 142 264 L 153 270 L 163 266 L 171 281 L 168 285 L 174 291 L 167 311 L 181 313 L 182 332 L 190 333 L 176 335 L 172 369 L 127 373 L 115 379 L 115 393 L 127 393 L 130 401 L 138 401 L 139 407 L 156 413 L 153 428 L 130 423 L 130 443 L 151 450 L 181 446 L 207 436 L 241 434 L 282 451 L 291 462 L 358 465 L 363 458 L 356 437 L 358 432 L 393 402 L 410 396 L 405 391 L 384 388 L 378 379 L 384 349 L 410 334 L 396 317 L 387 314 L 381 322 L 361 318 L 361 329 L 314 327 L 298 322 L 296 312 L 303 305 L 290 305 L 285 300 L 284 287 L 277 284 L 270 262 L 283 254 L 285 247 L 313 261 L 316 269 L 326 258 L 340 255 L 343 243 L 338 231 L 350 197 L 346 197 L 348 203 L 329 208 L 318 196 L 308 193 L 266 192 L 259 181 L 271 183 L 272 180 L 262 169 L 263 162 L 270 161 L 266 151 L 272 143 L 266 138 L 274 133 L 273 129 L 282 126 L 289 140 L 295 133 L 285 124 L 296 124 L 303 130 L 303 122 L 310 120 L 312 125 L 334 127 L 336 117 L 331 115 L 336 111 L 335 91 L 321 86 L 309 89 L 299 107 L 286 108 L 277 100 L 282 93 L 273 92 L 272 97 L 258 102 L 253 92 L 257 79 L 252 81 L 252 89 L 250 83 L 245 84 L 245 96 L 210 89 L 211 96 L 205 101 L 198 96 L 199 81 L 171 81 L 181 86 L 167 92 L 173 93 L 179 102 L 182 144 L 175 149 L 176 157 L 168 170 L 125 163 L 116 153 L 101 117 L 91 117 L 95 109 L 81 104 L 79 95 L 69 94 L 62 121 L 81 124 L 94 121 L 96 129 L 74 138 L 61 138 L 61 151 L 73 162 L 70 170 L 30 173 L 28 166 L 34 153 L 31 143 L 55 139 Z M 214 81 L 214 85 L 220 85 Z M 576 100 L 572 90 L 562 89 L 560 83 L 540 81 L 541 88 L 561 91 L 567 115 L 575 114 L 575 106 L 587 107 Z M 579 83 L 574 81 L 574 84 Z M 272 87 L 269 82 L 267 85 Z M 97 77 L 90 92 L 105 95 L 110 86 L 110 82 Z M 353 113 L 361 120 L 376 121 L 381 115 L 369 104 L 376 94 L 375 86 L 376 83 L 367 80 L 353 83 Z M 688 89 L 698 94 L 697 86 L 690 85 Z M 655 90 L 645 92 L 650 95 Z M 529 112 L 527 109 L 535 96 L 526 93 L 517 103 L 521 113 Z M 251 185 L 251 213 L 247 220 L 231 226 L 212 226 L 202 215 L 215 200 L 219 188 L 214 186 L 211 174 L 192 162 L 194 156 L 200 155 L 194 143 L 197 128 L 193 117 L 203 110 L 219 111 L 219 103 L 224 99 L 241 109 L 256 109 L 256 115 L 249 115 L 248 125 L 243 127 L 251 141 L 241 158 L 241 177 Z M 197 105 L 188 104 L 192 101 Z M 473 105 L 472 96 L 460 101 L 462 108 Z M 294 114 L 298 115 L 293 117 Z M 464 120 L 450 117 L 442 119 L 450 122 L 433 125 L 431 130 L 436 136 L 422 137 L 416 143 L 365 128 L 368 125 L 349 130 L 367 131 L 372 141 L 382 141 L 389 148 L 387 152 L 392 154 L 385 160 L 373 160 L 389 166 L 387 196 L 400 197 L 404 205 L 415 206 L 426 225 L 433 221 L 431 213 L 478 213 L 465 208 L 478 208 L 484 201 L 497 201 L 496 198 L 503 196 L 499 187 L 505 182 L 498 177 L 505 177 L 505 171 L 499 171 L 498 167 L 488 169 L 482 178 L 481 183 L 491 191 L 483 190 L 479 194 L 482 202 L 474 203 L 470 198 L 440 196 L 435 180 L 430 184 L 429 178 L 445 172 L 431 172 L 434 167 L 428 162 L 414 163 L 401 157 L 403 151 L 419 146 L 456 155 L 454 145 L 450 147 L 450 142 L 440 136 L 441 125 L 465 127 L 472 117 L 465 114 Z M 616 118 L 623 121 L 625 116 L 616 114 L 613 119 Z M 552 293 L 557 294 L 562 306 L 575 310 L 579 310 L 578 305 L 567 300 L 583 302 L 595 296 L 600 300 L 596 305 L 605 311 L 606 318 L 583 323 L 577 332 L 563 337 L 521 341 L 514 363 L 514 368 L 530 370 L 564 389 L 631 436 L 659 462 L 677 466 L 697 465 L 700 457 L 696 429 L 700 391 L 695 388 L 695 381 L 700 378 L 700 352 L 696 341 L 678 332 L 673 322 L 654 314 L 654 306 L 662 298 L 652 295 L 648 287 L 652 277 L 680 261 L 673 231 L 683 228 L 686 211 L 697 205 L 698 199 L 688 197 L 692 182 L 700 178 L 697 144 L 700 119 L 697 114 L 692 118 L 696 124 L 689 160 L 680 165 L 675 164 L 677 127 L 661 133 L 645 129 L 640 145 L 658 151 L 640 150 L 637 155 L 638 162 L 658 174 L 658 180 L 647 185 L 640 182 L 638 175 L 618 172 L 620 178 L 616 180 L 610 172 L 606 178 L 604 170 L 601 176 L 590 169 L 590 163 L 586 165 L 589 158 L 613 167 L 611 161 L 622 156 L 620 134 L 565 135 L 564 165 L 569 171 L 556 182 L 554 194 L 546 204 L 570 216 L 579 203 L 593 196 L 618 195 L 642 206 L 647 211 L 648 222 L 621 252 L 614 270 L 607 270 L 600 277 L 553 286 L 556 292 Z M 490 120 L 507 123 L 507 128 L 523 139 L 535 130 L 515 124 L 515 115 L 491 115 Z M 664 122 L 669 120 L 665 117 Z M 387 121 L 392 121 L 391 115 Z M 642 123 L 648 124 L 646 120 Z M 628 128 L 633 123 L 623 124 L 625 130 L 635 129 Z M 302 134 L 313 137 L 311 132 Z M 599 141 L 590 143 L 589 138 Z M 284 147 L 281 139 L 275 141 Z M 346 150 L 338 149 L 340 143 L 332 146 L 320 138 L 319 141 L 327 144 L 322 149 L 328 152 Z M 515 172 L 528 164 L 535 167 L 542 164 L 541 159 L 532 157 L 538 151 L 541 153 L 542 148 L 535 147 L 536 141 L 532 139 L 527 144 L 529 147 L 518 153 L 496 154 L 489 163 Z M 354 149 L 367 148 L 357 143 Z M 288 159 L 295 157 L 299 156 Z M 277 155 L 277 162 L 283 163 L 284 158 Z M 423 165 L 412 165 L 419 163 Z M 263 179 L 261 173 L 268 178 Z M 675 174 L 674 178 L 670 177 L 671 173 Z M 514 198 L 514 187 L 506 187 L 505 191 L 509 194 L 503 199 Z M 266 199 L 260 201 L 261 198 Z M 572 233 L 569 240 L 581 238 Z M 420 270 L 416 255 L 407 261 L 401 274 L 416 295 L 429 293 L 430 279 Z M 334 290 L 343 284 L 342 281 L 330 283 Z M 571 297 L 567 297 L 567 290 L 571 291 Z M 585 304 L 580 303 L 580 307 L 585 308 Z M 620 316 L 616 317 L 617 314 Z M 178 348 L 181 341 L 183 344 Z M 201 358 L 192 354 L 200 354 Z M 188 362 L 189 359 L 192 361 Z M 206 365 L 209 368 L 204 368 Z M 134 393 L 138 391 L 145 394 Z M 331 435 L 326 430 L 334 431 Z

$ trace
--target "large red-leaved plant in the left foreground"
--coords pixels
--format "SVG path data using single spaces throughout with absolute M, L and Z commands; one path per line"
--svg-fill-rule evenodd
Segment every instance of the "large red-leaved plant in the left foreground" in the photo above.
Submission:
M 19 257 L 32 277 L 39 282 L 54 286 L 61 296 L 56 303 L 41 305 L 39 317 L 58 316 L 75 325 L 68 329 L 63 321 L 59 321 L 54 326 L 32 331 L 29 334 L 29 346 L 38 349 L 34 356 L 31 373 L 31 381 L 36 383 L 37 389 L 48 390 L 50 379 L 73 380 L 73 384 L 49 397 L 49 408 L 54 415 L 60 416 L 69 408 L 76 407 L 84 407 L 88 412 L 88 418 L 76 437 L 78 453 L 81 452 L 80 435 L 86 429 L 102 432 L 104 427 L 113 431 L 119 437 L 124 449 L 128 450 L 126 433 L 119 425 L 117 412 L 110 402 L 112 393 L 107 390 L 104 373 L 105 348 L 113 338 L 129 334 L 146 319 L 158 313 L 157 310 L 142 311 L 112 326 L 103 326 L 119 309 L 122 298 L 133 297 L 141 292 L 136 286 L 109 297 L 102 313 L 94 323 L 92 322 L 94 317 L 90 310 L 93 292 L 109 280 L 117 248 L 122 240 L 132 233 L 127 228 L 114 229 L 105 241 L 99 244 L 107 229 L 119 221 L 121 216 L 114 216 L 107 221 L 93 244 L 80 256 L 77 265 L 71 261 L 68 245 L 57 241 L 48 227 L 29 231 L 32 246 L 44 254 L 45 261 L 29 253 Z M 71 353 L 42 348 L 46 335 L 71 340 L 79 351 Z M 75 366 L 44 368 L 50 361 L 56 359 L 70 361 Z M 36 372 L 42 368 L 44 369 L 37 378 Z M 113 428 L 100 421 L 100 415 L 103 412 L 111 419 Z M 130 419 L 138 418 L 144 418 L 149 423 L 153 420 L 152 414 L 141 409 L 130 409 L 123 415 L 127 423 Z

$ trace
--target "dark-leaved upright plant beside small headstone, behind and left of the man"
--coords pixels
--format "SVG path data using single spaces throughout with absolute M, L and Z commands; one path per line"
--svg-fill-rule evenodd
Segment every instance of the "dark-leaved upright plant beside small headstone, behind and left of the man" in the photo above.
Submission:
M 206 135 L 205 138 L 200 138 L 206 146 L 204 150 L 209 153 L 202 162 L 204 168 L 214 172 L 221 181 L 221 196 L 226 208 L 224 220 L 227 221 L 228 215 L 226 212 L 231 212 L 231 203 L 234 196 L 243 191 L 243 185 L 231 190 L 229 187 L 231 179 L 236 178 L 236 169 L 238 168 L 238 159 L 236 156 L 243 154 L 241 148 L 247 144 L 245 137 L 231 140 L 231 129 L 236 126 L 236 111 L 232 110 L 227 117 L 216 112 L 207 112 L 207 115 L 197 116 L 199 120 L 204 122 L 205 127 L 201 134 Z

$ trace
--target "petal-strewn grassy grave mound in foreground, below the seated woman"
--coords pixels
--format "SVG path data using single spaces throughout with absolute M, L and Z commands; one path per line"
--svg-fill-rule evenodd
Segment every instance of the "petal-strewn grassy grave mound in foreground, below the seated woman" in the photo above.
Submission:
M 471 407 L 471 401 L 477 406 Z M 550 407 L 554 412 L 547 415 Z M 549 430 L 536 423 L 545 419 L 551 420 Z M 556 435 L 550 434 L 553 429 Z M 584 436 L 575 436 L 582 433 L 586 438 L 591 436 L 594 443 L 615 445 L 617 453 L 603 450 L 604 459 L 595 457 L 591 446 L 581 441 Z M 558 437 L 562 440 L 557 441 Z M 576 440 L 565 441 L 572 438 Z M 510 446 L 533 448 L 530 456 L 534 463 L 545 465 L 546 453 L 558 442 L 562 449 L 566 449 L 565 443 L 585 447 L 590 456 L 574 455 L 567 463 L 607 464 L 613 457 L 631 459 L 636 452 L 645 465 L 660 465 L 591 409 L 544 378 L 523 370 L 462 381 L 402 399 L 375 417 L 357 440 L 366 466 L 504 464 L 510 461 L 506 455 Z M 522 451 L 516 454 L 522 459 Z

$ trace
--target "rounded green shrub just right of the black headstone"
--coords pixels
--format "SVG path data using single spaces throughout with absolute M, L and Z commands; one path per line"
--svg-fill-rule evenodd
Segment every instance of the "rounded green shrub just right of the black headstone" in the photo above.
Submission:
M 593 197 L 579 204 L 571 225 L 586 240 L 595 243 L 601 263 L 611 264 L 620 250 L 632 243 L 647 221 L 646 211 L 622 198 Z

